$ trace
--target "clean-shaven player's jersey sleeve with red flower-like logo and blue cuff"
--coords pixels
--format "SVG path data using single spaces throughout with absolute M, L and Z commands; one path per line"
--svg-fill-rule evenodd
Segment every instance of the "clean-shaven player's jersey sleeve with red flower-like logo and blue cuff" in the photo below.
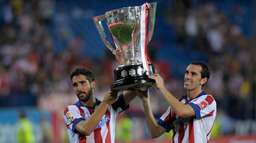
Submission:
M 211 95 L 203 95 L 188 103 L 195 111 L 195 117 L 212 116 L 216 110 L 216 102 Z

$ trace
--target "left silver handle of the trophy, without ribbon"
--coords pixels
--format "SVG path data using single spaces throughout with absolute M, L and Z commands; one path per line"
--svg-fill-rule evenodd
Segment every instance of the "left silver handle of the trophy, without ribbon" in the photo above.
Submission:
M 104 29 L 102 27 L 102 24 L 101 24 L 101 21 L 105 21 L 105 15 L 99 15 L 99 16 L 96 16 L 96 17 L 92 17 L 92 20 L 93 22 L 95 23 L 99 33 L 100 33 L 100 37 L 101 39 L 103 40 L 104 44 L 107 46 L 107 48 L 109 50 L 111 50 L 112 52 L 116 52 L 116 49 L 114 49 L 111 44 L 109 44 L 109 41 L 107 40 L 107 37 L 106 37 L 106 34 L 104 32 Z M 117 53 L 118 54 L 118 53 Z

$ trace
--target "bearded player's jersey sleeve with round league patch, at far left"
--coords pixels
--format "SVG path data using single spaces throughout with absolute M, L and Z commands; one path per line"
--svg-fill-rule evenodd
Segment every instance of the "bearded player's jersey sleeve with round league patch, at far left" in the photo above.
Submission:
M 66 122 L 66 127 L 73 131 L 74 133 L 77 133 L 75 130 L 76 124 L 78 124 L 80 121 L 85 120 L 77 109 L 76 106 L 71 105 L 67 106 L 64 110 L 64 119 Z

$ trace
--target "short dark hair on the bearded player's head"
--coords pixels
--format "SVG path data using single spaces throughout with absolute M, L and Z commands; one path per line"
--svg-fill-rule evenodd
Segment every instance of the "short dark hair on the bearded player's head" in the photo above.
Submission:
M 79 76 L 80 74 L 86 76 L 90 83 L 95 80 L 94 74 L 92 73 L 92 71 L 90 71 L 89 69 L 87 69 L 85 67 L 76 68 L 74 71 L 71 72 L 69 77 L 72 81 L 74 76 Z

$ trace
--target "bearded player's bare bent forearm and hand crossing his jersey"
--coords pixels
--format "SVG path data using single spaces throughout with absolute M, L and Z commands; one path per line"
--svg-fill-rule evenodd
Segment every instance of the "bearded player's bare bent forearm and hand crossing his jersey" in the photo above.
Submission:
M 86 136 L 91 135 L 93 130 L 100 123 L 100 120 L 106 113 L 109 105 L 114 103 L 117 97 L 118 97 L 118 91 L 110 91 L 110 90 L 107 91 L 104 99 L 100 103 L 97 110 L 87 120 L 80 121 L 78 124 L 76 124 L 76 127 L 75 127 L 76 131 Z

